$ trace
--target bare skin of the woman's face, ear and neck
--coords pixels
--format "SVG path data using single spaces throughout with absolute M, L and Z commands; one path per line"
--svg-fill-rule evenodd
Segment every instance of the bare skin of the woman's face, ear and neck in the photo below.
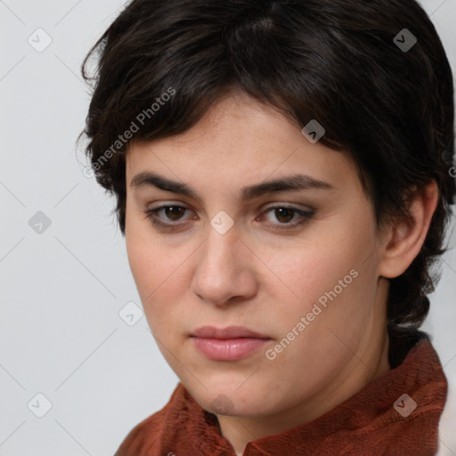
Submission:
M 144 171 L 187 183 L 201 200 L 131 187 Z M 240 199 L 243 186 L 297 173 L 334 190 Z M 126 183 L 128 260 L 151 331 L 183 386 L 216 413 L 238 455 L 249 441 L 322 416 L 390 370 L 387 278 L 419 253 L 436 208 L 434 184 L 413 200 L 413 223 L 379 229 L 351 159 L 309 142 L 280 112 L 240 93 L 220 99 L 184 134 L 132 143 Z M 165 205 L 187 208 L 156 214 L 178 226 L 174 232 L 144 214 Z M 312 208 L 314 216 L 287 228 L 300 217 L 266 211 L 280 205 Z M 210 224 L 221 210 L 234 222 L 224 234 Z M 265 350 L 351 270 L 357 277 L 267 359 Z M 211 361 L 190 338 L 203 325 L 245 326 L 272 340 L 240 361 Z M 214 402 L 219 395 L 226 396 L 223 413 Z

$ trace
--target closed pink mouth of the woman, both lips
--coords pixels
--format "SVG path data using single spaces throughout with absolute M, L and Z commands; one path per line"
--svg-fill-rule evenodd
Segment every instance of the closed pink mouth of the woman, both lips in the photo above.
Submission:
M 194 346 L 212 361 L 238 361 L 254 354 L 272 338 L 240 326 L 204 326 L 191 333 Z

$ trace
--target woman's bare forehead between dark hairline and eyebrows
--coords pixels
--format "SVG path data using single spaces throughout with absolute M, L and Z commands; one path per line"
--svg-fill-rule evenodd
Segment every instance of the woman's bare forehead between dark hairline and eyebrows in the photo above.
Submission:
M 126 155 L 127 186 L 144 171 L 218 188 L 290 174 L 309 175 L 333 187 L 357 179 L 345 153 L 309 142 L 281 112 L 246 94 L 219 99 L 182 134 L 133 142 Z

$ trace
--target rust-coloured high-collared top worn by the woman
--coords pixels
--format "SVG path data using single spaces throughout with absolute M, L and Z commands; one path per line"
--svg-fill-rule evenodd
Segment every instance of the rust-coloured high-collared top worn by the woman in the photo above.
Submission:
M 428 335 L 390 336 L 391 371 L 318 419 L 249 442 L 243 456 L 435 455 L 448 384 Z M 114 456 L 236 456 L 216 415 L 179 383 Z

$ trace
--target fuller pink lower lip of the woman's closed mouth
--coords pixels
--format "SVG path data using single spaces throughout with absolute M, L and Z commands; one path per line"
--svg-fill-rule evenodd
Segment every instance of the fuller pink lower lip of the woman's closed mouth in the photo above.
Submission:
M 265 338 L 192 338 L 195 346 L 212 361 L 237 361 L 265 346 Z

